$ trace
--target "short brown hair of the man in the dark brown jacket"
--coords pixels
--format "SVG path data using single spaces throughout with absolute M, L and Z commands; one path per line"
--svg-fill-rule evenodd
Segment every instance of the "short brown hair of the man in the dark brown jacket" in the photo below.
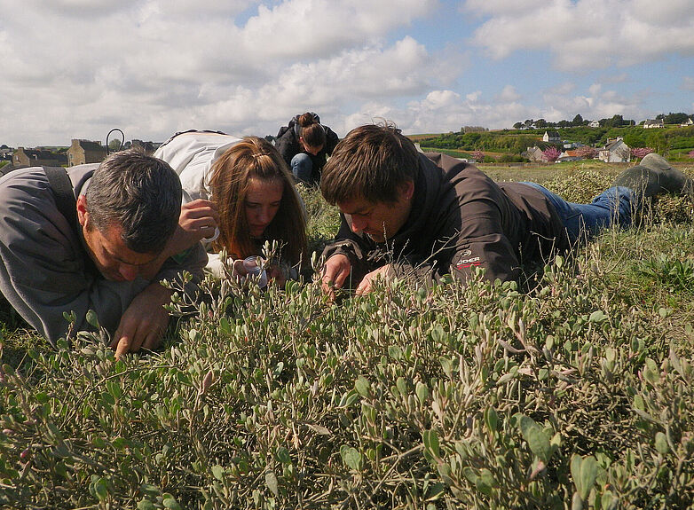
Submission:
M 320 192 L 327 203 L 363 198 L 395 203 L 402 184 L 415 180 L 419 165 L 412 141 L 393 124 L 352 129 L 323 168 Z

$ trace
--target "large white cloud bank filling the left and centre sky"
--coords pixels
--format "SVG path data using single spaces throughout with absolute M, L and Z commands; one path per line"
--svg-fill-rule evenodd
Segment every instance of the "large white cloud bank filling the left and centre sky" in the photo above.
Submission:
M 11 4 L 0 0 L 0 61 L 12 69 L 0 75 L 2 143 L 67 144 L 114 126 L 155 140 L 274 134 L 305 110 L 342 127 L 362 103 L 456 75 L 414 37 L 386 40 L 436 0 Z

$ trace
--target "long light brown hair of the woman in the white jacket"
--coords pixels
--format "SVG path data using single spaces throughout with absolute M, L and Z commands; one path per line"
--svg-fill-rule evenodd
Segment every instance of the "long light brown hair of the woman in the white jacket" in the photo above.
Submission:
M 248 181 L 256 178 L 283 185 L 280 208 L 265 228 L 265 239 L 280 242 L 284 260 L 292 264 L 306 260 L 304 210 L 287 163 L 270 142 L 244 137 L 213 163 L 211 174 L 212 200 L 219 211 L 219 238 L 213 248 L 224 247 L 234 258 L 259 255 L 257 242 L 250 237 L 245 208 Z

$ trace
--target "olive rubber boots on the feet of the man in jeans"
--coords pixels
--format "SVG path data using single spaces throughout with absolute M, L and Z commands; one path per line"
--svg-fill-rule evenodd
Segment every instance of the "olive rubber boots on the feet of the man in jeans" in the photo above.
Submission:
M 656 153 L 647 154 L 640 164 L 624 170 L 612 185 L 626 186 L 643 197 L 662 192 L 694 197 L 694 181 L 678 169 L 673 169 L 665 158 Z

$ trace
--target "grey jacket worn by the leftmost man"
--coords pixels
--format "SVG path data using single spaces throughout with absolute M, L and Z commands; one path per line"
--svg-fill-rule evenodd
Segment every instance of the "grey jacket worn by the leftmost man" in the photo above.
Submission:
M 75 197 L 83 194 L 98 164 L 68 169 Z M 114 333 L 122 313 L 151 281 L 108 281 L 85 267 L 82 231 L 60 214 L 40 167 L 17 169 L 0 177 L 0 290 L 20 315 L 55 344 L 69 326 L 64 312 L 74 312 L 76 331 L 85 329 L 88 310 Z M 207 263 L 198 245 L 179 263 L 169 259 L 155 280 L 174 280 L 180 271 L 201 278 Z M 181 260 L 183 259 L 183 260 Z

